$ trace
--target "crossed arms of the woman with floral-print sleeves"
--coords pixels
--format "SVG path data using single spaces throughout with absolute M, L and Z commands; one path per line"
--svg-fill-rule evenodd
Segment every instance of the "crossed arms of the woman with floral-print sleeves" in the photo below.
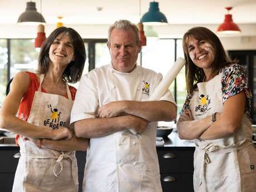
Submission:
M 200 137 L 203 140 L 212 140 L 230 136 L 241 126 L 245 102 L 244 91 L 229 97 L 224 102 L 223 112 L 216 115 L 215 122 L 211 121 L 211 116 L 194 120 L 190 110 L 184 111 L 177 122 L 180 139 L 192 140 Z

